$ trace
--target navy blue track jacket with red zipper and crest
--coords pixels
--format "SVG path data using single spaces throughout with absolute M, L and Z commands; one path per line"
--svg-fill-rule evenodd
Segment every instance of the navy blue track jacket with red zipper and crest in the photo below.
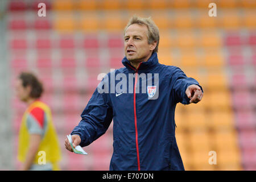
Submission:
M 180 68 L 159 64 L 157 53 L 152 53 L 138 69 L 126 57 L 122 63 L 124 68 L 108 73 L 101 81 L 106 92 L 95 90 L 71 135 L 80 135 L 80 146 L 88 146 L 108 130 L 113 119 L 110 170 L 184 170 L 175 138 L 175 107 L 178 102 L 189 104 L 185 90 L 199 83 Z M 127 79 L 113 77 L 119 73 Z M 134 75 L 132 84 L 128 81 L 129 73 Z M 143 90 L 143 73 L 147 90 Z M 113 85 L 118 88 L 121 80 L 126 81 L 123 83 L 127 84 L 127 91 L 111 92 Z

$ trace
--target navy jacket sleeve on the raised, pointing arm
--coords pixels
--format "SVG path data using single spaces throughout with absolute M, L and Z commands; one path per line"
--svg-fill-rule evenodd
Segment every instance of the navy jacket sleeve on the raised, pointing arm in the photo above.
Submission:
M 199 85 L 199 82 L 197 82 L 194 78 L 187 77 L 180 68 L 175 67 L 171 77 L 171 88 L 174 93 L 174 100 L 176 103 L 181 102 L 181 104 L 190 104 L 190 99 L 187 97 L 185 91 L 189 85 L 193 84 L 198 85 L 202 92 L 204 92 L 203 88 Z

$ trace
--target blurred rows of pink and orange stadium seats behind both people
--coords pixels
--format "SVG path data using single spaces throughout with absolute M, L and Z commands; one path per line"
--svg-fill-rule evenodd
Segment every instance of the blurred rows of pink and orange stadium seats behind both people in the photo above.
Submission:
M 46 3 L 46 17 L 38 4 Z M 209 17 L 210 2 L 217 17 Z M 183 69 L 203 86 L 199 104 L 176 107 L 176 138 L 186 170 L 256 170 L 255 0 L 1 0 L 0 169 L 16 170 L 18 129 L 26 105 L 14 94 L 20 71 L 43 81 L 63 170 L 108 170 L 112 125 L 85 147 L 65 150 L 65 135 L 98 84 L 99 73 L 123 67 L 123 28 L 151 16 L 160 30 L 159 61 Z M 152 149 L 154 150 L 154 149 Z M 209 151 L 217 164 L 210 165 Z

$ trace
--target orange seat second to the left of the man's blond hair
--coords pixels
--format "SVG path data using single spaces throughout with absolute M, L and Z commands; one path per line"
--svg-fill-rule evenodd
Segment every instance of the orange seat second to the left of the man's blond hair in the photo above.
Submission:
M 100 16 L 96 13 L 82 14 L 79 23 L 82 31 L 96 31 L 101 26 Z

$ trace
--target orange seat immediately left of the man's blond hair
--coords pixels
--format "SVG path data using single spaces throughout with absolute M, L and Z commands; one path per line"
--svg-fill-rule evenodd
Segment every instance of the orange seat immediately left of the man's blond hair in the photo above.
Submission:
M 102 28 L 108 31 L 122 31 L 125 23 L 122 19 L 121 12 L 105 13 L 102 17 Z

